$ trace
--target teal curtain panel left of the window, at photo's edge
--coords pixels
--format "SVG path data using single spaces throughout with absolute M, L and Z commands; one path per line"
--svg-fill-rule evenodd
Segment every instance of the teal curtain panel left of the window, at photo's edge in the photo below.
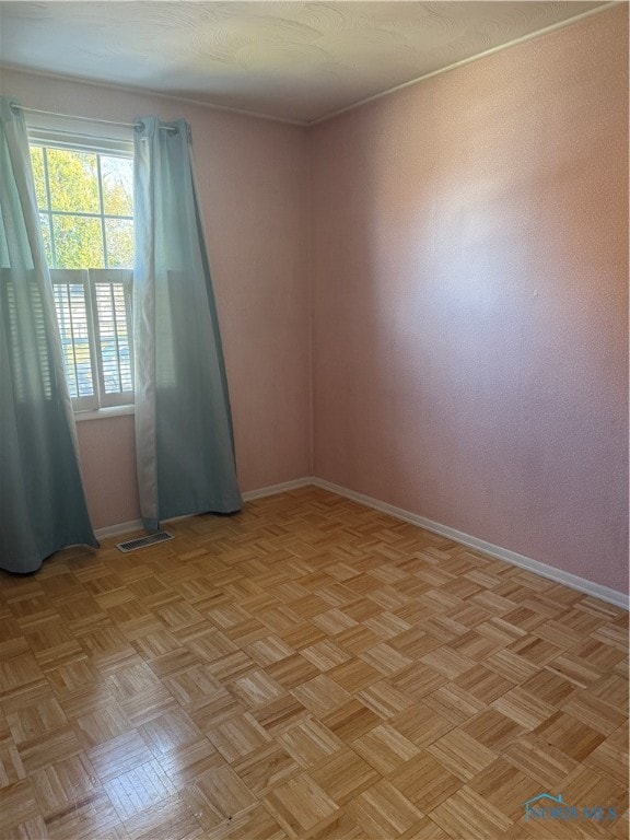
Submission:
M 14 104 L 14 103 L 13 103 Z M 0 568 L 98 544 L 79 469 L 22 112 L 0 97 Z

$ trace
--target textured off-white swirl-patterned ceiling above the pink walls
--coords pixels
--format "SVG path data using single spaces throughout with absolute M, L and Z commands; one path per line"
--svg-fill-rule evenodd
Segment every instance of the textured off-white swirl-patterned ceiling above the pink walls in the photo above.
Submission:
M 0 2 L 0 57 L 308 124 L 607 4 Z

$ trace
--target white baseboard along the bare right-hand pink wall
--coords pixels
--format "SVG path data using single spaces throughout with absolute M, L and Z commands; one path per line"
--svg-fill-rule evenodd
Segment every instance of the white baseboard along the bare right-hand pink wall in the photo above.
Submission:
M 324 481 L 320 478 L 313 478 L 312 483 L 315 485 L 315 487 L 329 490 L 331 493 L 337 493 L 338 495 L 343 495 L 347 499 L 359 502 L 359 504 L 364 504 L 368 508 L 374 508 L 375 510 L 382 511 L 383 513 L 388 513 L 398 520 L 404 520 L 405 522 L 409 522 L 412 525 L 418 525 L 419 527 L 425 528 L 433 534 L 440 534 L 442 537 L 448 537 L 448 539 L 452 539 L 455 542 L 460 542 L 464 546 L 475 548 L 478 551 L 482 551 L 485 555 L 490 555 L 490 557 L 504 560 L 506 563 L 511 563 L 512 565 L 518 565 L 522 569 L 527 569 L 527 571 L 539 574 L 542 578 L 547 578 L 555 583 L 562 583 L 572 590 L 578 590 L 578 592 L 583 592 L 594 598 L 600 598 L 602 600 L 606 600 L 608 604 L 615 604 L 615 606 L 621 607 L 622 609 L 630 608 L 630 596 L 622 592 L 617 592 L 617 590 L 611 590 L 609 586 L 604 586 L 603 584 L 595 583 L 594 581 L 587 581 L 585 578 L 580 578 L 578 574 L 564 572 L 562 569 L 557 569 L 553 565 L 541 563 L 539 560 L 533 560 L 530 557 L 518 555 L 516 551 L 511 551 L 508 548 L 494 546 L 492 542 L 487 542 L 485 539 L 471 537 L 469 534 L 464 534 L 462 530 L 456 530 L 455 528 L 450 528 L 447 525 L 442 525 L 439 522 L 427 520 L 424 516 L 419 516 L 418 514 L 411 513 L 410 511 L 405 511 L 401 508 L 395 508 L 392 504 L 380 502 L 377 499 L 363 495 L 363 493 L 357 493 L 353 490 L 347 490 L 345 487 L 330 483 L 330 481 Z

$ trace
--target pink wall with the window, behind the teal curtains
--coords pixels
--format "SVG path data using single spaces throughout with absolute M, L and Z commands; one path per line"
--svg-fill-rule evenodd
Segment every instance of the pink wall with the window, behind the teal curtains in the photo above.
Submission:
M 311 475 L 305 130 L 11 70 L 2 73 L 2 92 L 63 114 L 190 122 L 241 488 Z M 132 418 L 80 422 L 78 433 L 94 527 L 138 518 Z

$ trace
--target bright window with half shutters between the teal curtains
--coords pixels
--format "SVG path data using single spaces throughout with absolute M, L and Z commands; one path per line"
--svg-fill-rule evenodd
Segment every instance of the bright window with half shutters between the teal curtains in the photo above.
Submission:
M 133 402 L 129 143 L 30 131 L 42 233 L 75 410 Z

